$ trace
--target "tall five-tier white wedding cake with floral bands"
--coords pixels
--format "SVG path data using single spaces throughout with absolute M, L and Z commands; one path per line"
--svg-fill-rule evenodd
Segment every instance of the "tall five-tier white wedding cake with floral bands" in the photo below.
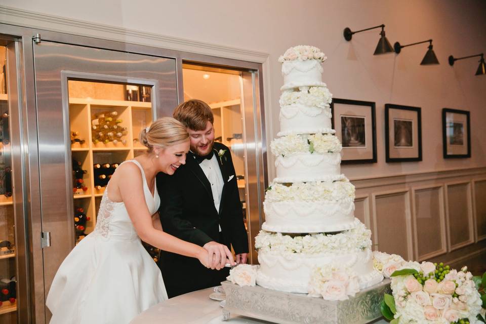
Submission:
M 279 58 L 280 137 L 271 143 L 277 177 L 265 194 L 265 223 L 256 237 L 256 282 L 324 296 L 323 290 L 335 288 L 324 284 L 338 278 L 354 295 L 383 276 L 373 268 L 371 231 L 354 218 L 354 186 L 341 174 L 332 95 L 322 82 L 325 60 L 310 46 L 290 48 Z

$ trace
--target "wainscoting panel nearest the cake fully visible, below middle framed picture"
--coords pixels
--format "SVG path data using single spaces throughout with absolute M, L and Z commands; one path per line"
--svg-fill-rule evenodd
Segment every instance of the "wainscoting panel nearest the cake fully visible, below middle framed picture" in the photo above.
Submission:
M 409 191 L 373 194 L 374 243 L 378 250 L 413 259 Z

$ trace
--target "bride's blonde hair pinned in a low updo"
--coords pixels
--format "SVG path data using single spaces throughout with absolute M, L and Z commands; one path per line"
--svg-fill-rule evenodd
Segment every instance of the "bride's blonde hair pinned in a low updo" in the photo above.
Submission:
M 150 127 L 140 132 L 140 143 L 152 152 L 154 147 L 167 148 L 189 139 L 189 133 L 180 121 L 172 117 L 162 117 L 155 120 Z

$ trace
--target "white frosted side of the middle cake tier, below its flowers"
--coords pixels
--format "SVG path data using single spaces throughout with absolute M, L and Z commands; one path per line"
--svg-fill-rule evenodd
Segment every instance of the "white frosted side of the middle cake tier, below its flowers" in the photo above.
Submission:
M 320 181 L 341 174 L 341 153 L 298 153 L 278 156 L 275 182 Z M 292 179 L 292 181 L 282 181 Z

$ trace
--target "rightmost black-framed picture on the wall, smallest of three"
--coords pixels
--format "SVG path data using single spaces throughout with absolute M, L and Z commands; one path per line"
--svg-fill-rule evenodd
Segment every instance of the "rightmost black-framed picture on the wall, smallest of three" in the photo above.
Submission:
M 442 144 L 444 158 L 471 157 L 469 111 L 442 109 Z

